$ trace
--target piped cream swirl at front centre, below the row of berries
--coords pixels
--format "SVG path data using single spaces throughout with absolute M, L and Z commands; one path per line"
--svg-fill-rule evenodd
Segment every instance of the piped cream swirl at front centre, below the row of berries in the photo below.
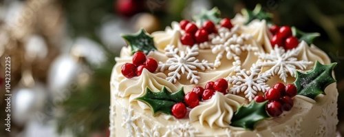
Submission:
M 237 108 L 245 103 L 245 98 L 234 94 L 215 92 L 213 97 L 193 108 L 189 114 L 191 121 L 199 120 L 201 125 L 208 123 L 211 128 L 229 127 Z

